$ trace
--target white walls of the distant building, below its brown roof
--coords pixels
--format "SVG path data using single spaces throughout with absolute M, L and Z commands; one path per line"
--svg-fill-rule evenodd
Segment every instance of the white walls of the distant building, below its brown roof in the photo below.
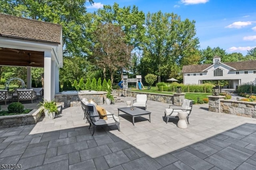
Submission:
M 220 68 L 223 70 L 223 76 L 214 76 L 214 70 Z M 243 71 L 239 71 L 239 74 L 236 74 L 235 71 L 230 71 L 230 67 L 223 65 L 221 63 L 212 65 L 207 69 L 207 72 L 197 72 L 197 73 L 184 73 L 184 84 L 200 84 L 200 80 L 234 80 L 230 81 L 230 88 L 235 88 L 236 85 L 240 83 L 256 83 L 256 73 L 253 73 L 253 70 L 248 70 L 248 74 L 244 74 Z M 247 70 L 246 70 L 247 71 Z M 202 73 L 202 75 L 200 75 Z M 190 76 L 188 76 L 190 74 Z M 194 74 L 196 74 L 194 76 Z

